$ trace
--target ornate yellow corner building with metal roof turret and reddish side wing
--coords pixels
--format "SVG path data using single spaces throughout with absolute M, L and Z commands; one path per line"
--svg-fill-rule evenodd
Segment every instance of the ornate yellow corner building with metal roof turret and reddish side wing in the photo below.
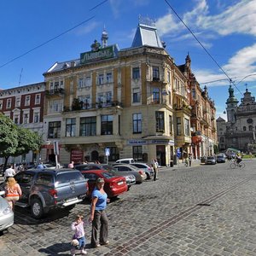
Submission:
M 105 161 L 106 148 L 109 161 L 157 159 L 161 166 L 177 149 L 195 159 L 213 153 L 214 102 L 191 72 L 189 55 L 177 66 L 152 20 L 140 20 L 130 48 L 108 45 L 105 30 L 90 48 L 44 73 L 42 160 L 55 161 L 54 142 L 63 164 Z

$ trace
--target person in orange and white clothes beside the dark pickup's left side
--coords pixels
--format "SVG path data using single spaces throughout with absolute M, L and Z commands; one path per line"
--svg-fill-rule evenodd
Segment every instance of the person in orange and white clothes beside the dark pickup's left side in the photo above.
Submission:
M 15 202 L 18 201 L 22 195 L 20 185 L 15 181 L 14 177 L 9 177 L 5 187 L 5 199 L 9 203 L 11 209 L 15 208 Z

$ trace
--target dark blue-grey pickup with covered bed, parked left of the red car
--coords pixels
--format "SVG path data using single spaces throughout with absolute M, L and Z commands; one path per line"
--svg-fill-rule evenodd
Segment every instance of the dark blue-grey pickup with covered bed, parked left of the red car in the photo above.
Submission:
M 22 190 L 15 206 L 31 207 L 33 218 L 42 218 L 50 209 L 73 208 L 84 200 L 88 190 L 84 176 L 73 169 L 26 170 L 17 173 L 15 180 Z

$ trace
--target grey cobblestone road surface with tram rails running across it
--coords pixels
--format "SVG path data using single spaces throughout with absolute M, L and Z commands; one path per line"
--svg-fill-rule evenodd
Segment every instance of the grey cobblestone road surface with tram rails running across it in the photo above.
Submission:
M 108 247 L 88 255 L 256 255 L 256 160 L 244 170 L 216 166 L 161 168 L 158 181 L 135 185 L 108 204 Z M 69 255 L 70 224 L 89 204 L 34 220 L 26 209 L 0 237 L 0 255 Z

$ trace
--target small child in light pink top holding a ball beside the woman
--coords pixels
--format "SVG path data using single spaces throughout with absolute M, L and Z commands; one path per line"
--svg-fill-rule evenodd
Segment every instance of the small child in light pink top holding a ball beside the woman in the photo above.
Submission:
M 72 248 L 70 250 L 71 255 L 75 255 L 76 249 L 80 250 L 80 254 L 87 254 L 85 248 L 85 236 L 84 236 L 84 216 L 77 215 L 71 229 L 74 231 L 73 240 L 71 242 Z

